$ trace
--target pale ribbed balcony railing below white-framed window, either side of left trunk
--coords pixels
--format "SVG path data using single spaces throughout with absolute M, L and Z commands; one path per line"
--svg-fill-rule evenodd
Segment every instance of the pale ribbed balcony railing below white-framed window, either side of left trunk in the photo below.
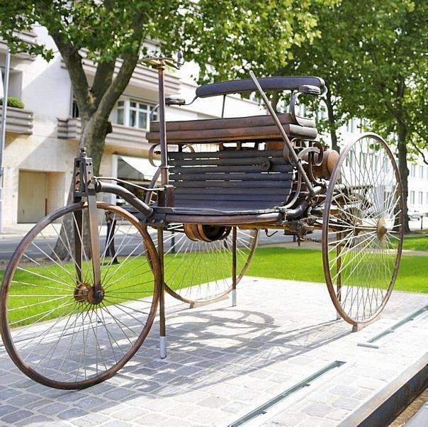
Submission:
M 132 128 L 130 126 L 113 123 L 113 132 L 106 136 L 106 145 L 116 147 L 130 146 L 133 148 L 149 148 L 145 129 Z M 80 118 L 58 119 L 58 138 L 79 140 L 81 135 Z

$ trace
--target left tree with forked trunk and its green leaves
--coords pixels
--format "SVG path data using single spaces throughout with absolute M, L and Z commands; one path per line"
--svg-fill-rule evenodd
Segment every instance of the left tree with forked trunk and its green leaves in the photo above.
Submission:
M 179 38 L 182 3 L 181 0 L 1 2 L 0 36 L 9 43 L 12 53 L 30 52 L 52 59 L 52 50 L 30 45 L 18 37 L 18 32 L 36 23 L 47 28 L 55 41 L 79 107 L 79 146 L 86 147 L 93 157 L 96 174 L 106 135 L 111 132 L 108 117 L 128 85 L 144 50 L 143 43 L 160 35 L 163 43 Z M 84 72 L 84 57 L 97 65 L 92 84 Z

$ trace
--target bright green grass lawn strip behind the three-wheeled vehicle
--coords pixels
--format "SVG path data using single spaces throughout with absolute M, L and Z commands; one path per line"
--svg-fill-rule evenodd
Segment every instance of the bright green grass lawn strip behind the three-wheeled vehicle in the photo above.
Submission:
M 187 254 L 186 260 L 191 261 L 189 257 L 192 256 L 192 254 Z M 204 263 L 215 265 L 210 256 L 213 255 L 207 255 Z M 120 268 L 117 266 L 103 267 L 103 274 L 108 277 L 107 282 L 109 283 L 105 288 L 104 304 L 121 304 L 152 294 L 152 273 L 147 259 L 136 257 L 128 261 L 120 265 Z M 211 271 L 209 277 L 206 268 L 196 267 L 196 270 L 193 269 L 189 273 L 186 270 L 186 262 L 182 262 L 180 257 L 170 260 L 167 257 L 166 265 L 168 261 L 170 264 L 167 270 L 170 274 L 173 272 L 172 274 L 177 279 L 176 283 L 180 286 L 185 286 L 185 283 L 188 286 L 221 277 L 230 277 L 231 260 L 224 260 L 223 268 Z M 91 265 L 84 267 L 87 267 L 84 270 L 91 270 Z M 86 307 L 86 304 L 82 306 L 81 303 L 74 300 L 74 265 L 67 265 L 67 270 L 68 272 L 64 272 L 60 267 L 53 265 L 17 270 L 9 295 L 9 322 L 14 323 L 14 326 L 22 326 L 34 321 L 45 321 L 64 316 L 74 310 L 90 309 L 90 306 Z M 0 272 L 0 275 L 2 273 Z M 259 248 L 246 274 L 257 277 L 325 282 L 320 250 Z M 192 280 L 189 280 L 189 277 Z M 167 283 L 172 282 L 168 275 L 166 281 Z M 86 282 L 90 283 L 91 280 L 88 279 Z M 428 257 L 402 255 L 395 289 L 428 293 Z

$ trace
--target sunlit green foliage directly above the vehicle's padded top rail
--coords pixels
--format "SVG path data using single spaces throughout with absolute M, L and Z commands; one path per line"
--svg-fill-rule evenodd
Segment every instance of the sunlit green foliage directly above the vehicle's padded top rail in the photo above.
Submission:
M 199 82 L 247 78 L 249 70 L 274 75 L 293 60 L 291 48 L 320 36 L 313 4 L 334 0 L 201 0 L 186 13 L 191 41 L 185 57 L 201 67 Z

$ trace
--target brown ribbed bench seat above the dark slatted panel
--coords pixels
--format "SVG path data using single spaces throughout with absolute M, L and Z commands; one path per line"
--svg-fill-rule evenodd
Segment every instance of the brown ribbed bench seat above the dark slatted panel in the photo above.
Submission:
M 313 140 L 317 138 L 315 121 L 299 118 L 304 126 L 293 123 L 291 114 L 278 114 L 290 138 Z M 150 123 L 146 134 L 150 143 L 159 143 L 159 122 Z M 208 120 L 167 122 L 167 143 L 213 143 L 232 141 L 270 141 L 281 139 L 281 134 L 271 116 L 213 118 Z

